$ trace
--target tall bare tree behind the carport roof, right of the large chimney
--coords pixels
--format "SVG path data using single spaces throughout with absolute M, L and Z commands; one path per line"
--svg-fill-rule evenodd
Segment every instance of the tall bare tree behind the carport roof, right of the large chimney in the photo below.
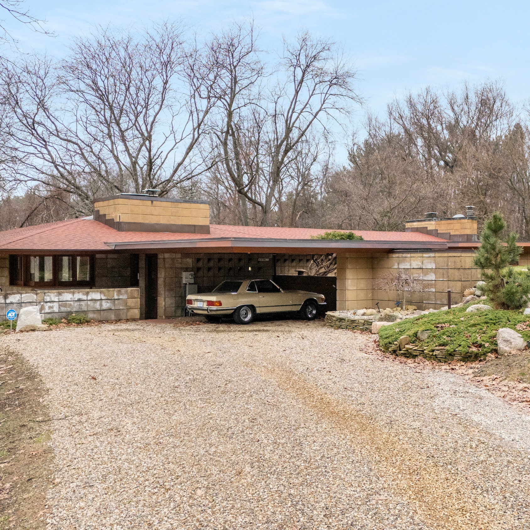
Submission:
M 227 89 L 217 132 L 224 174 L 216 171 L 237 194 L 241 222 L 251 218 L 268 226 L 278 222 L 286 193 L 291 204 L 299 201 L 314 154 L 322 150 L 313 139 L 324 138 L 329 121 L 347 114 L 359 98 L 352 86 L 355 72 L 334 43 L 302 33 L 284 42 L 276 72 L 265 77 L 254 39 L 252 28 L 238 26 L 217 41 Z M 293 215 L 281 215 L 280 222 L 293 223 Z

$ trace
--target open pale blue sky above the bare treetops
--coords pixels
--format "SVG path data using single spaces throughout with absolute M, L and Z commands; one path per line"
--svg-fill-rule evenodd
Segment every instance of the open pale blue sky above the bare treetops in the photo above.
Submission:
M 487 78 L 505 82 L 509 96 L 530 96 L 530 2 L 448 0 L 27 0 L 46 19 L 49 38 L 6 21 L 22 49 L 65 53 L 70 37 L 95 24 L 142 27 L 149 20 L 182 18 L 199 33 L 252 16 L 262 48 L 305 28 L 340 42 L 359 72 L 367 108 L 384 111 L 395 95 L 426 85 L 457 88 Z M 364 111 L 359 111 L 357 121 Z

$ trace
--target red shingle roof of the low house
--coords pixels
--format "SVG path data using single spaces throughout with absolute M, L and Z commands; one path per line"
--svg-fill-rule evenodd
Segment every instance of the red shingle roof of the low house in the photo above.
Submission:
M 186 241 L 219 238 L 252 238 L 277 240 L 309 240 L 312 235 L 323 234 L 325 229 L 281 228 L 262 226 L 210 225 L 209 234 L 166 232 L 118 232 L 93 219 L 70 219 L 27 228 L 0 232 L 1 250 L 21 251 L 108 251 L 107 243 Z M 442 243 L 438 237 L 421 232 L 376 232 L 354 230 L 369 242 Z M 214 245 L 215 246 L 215 245 Z M 368 246 L 368 245 L 367 245 Z M 132 250 L 132 249 L 131 249 Z

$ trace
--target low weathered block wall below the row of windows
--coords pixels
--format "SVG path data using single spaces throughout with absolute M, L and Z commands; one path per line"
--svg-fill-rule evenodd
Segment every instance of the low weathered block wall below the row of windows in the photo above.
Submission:
M 0 321 L 6 312 L 17 314 L 23 307 L 38 305 L 44 319 L 63 319 L 72 313 L 91 320 L 138 320 L 140 318 L 140 290 L 127 289 L 54 289 L 33 293 L 0 293 Z

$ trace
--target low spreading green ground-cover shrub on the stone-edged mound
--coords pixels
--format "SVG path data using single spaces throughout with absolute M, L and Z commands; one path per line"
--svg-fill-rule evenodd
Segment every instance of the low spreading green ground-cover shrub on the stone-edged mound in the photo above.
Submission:
M 479 357 L 485 357 L 497 349 L 496 335 L 499 328 L 511 328 L 522 334 L 525 340 L 530 340 L 529 315 L 518 311 L 494 309 L 466 313 L 469 305 L 471 304 L 384 326 L 379 330 L 379 347 L 387 351 L 402 335 L 408 335 L 412 343 L 426 348 L 445 346 L 449 355 L 471 350 L 477 351 Z M 519 326 L 523 329 L 516 329 L 517 324 L 523 324 Z M 418 331 L 423 330 L 432 330 L 434 333 L 424 341 L 419 341 Z

